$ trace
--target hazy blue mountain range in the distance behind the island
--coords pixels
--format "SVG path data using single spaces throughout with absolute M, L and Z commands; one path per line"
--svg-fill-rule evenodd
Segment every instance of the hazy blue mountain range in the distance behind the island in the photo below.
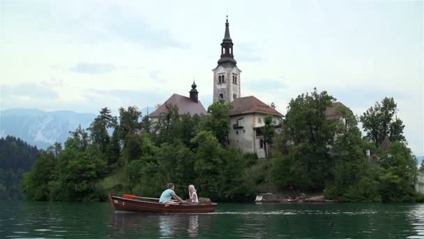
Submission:
M 155 108 L 142 108 L 142 114 L 152 113 Z M 0 137 L 15 136 L 30 145 L 45 149 L 55 142 L 64 143 L 69 131 L 90 126 L 96 117 L 90 113 L 76 113 L 68 110 L 43 111 L 36 109 L 0 110 Z

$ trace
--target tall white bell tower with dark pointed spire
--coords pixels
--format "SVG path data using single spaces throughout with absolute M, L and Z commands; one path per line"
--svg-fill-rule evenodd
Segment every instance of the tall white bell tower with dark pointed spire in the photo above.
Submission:
M 218 66 L 213 71 L 213 102 L 225 101 L 230 103 L 241 97 L 241 70 L 237 68 L 234 59 L 233 41 L 229 36 L 228 16 L 225 22 L 225 34 L 221 43 L 221 57 Z

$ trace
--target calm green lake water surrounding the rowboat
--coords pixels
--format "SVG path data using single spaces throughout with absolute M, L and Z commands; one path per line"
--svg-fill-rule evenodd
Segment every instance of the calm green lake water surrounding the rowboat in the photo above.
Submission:
M 424 204 L 219 203 L 204 215 L 1 201 L 0 238 L 424 238 Z

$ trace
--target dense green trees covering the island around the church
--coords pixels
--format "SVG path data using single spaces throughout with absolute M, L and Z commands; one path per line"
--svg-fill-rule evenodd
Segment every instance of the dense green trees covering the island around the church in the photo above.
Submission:
M 252 201 L 268 191 L 293 196 L 292 189 L 340 201 L 416 201 L 417 162 L 402 136 L 402 121 L 393 119 L 393 99 L 361 117 L 379 125 L 377 137 L 365 138 L 349 108 L 337 105 L 338 117 L 326 115 L 334 101 L 316 89 L 299 95 L 278 131 L 272 117 L 265 117 L 265 148 L 272 151 L 264 160 L 229 145 L 231 106 L 225 103 L 213 103 L 202 117 L 166 106 L 155 119 L 137 107 L 121 108 L 117 117 L 103 108 L 89 129 L 70 132 L 63 149 L 56 144 L 40 152 L 24 176 L 24 195 L 36 201 L 101 201 L 108 193 L 158 197 L 174 182 L 182 198 L 195 184 L 199 196 L 213 201 Z M 386 136 L 391 145 L 382 150 Z

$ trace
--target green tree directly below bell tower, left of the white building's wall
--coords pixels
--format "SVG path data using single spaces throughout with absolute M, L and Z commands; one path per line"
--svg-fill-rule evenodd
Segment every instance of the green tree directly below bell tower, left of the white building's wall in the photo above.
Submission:
M 229 110 L 232 105 L 221 101 L 215 101 L 208 108 L 209 115 L 202 118 L 199 131 L 211 131 L 218 142 L 227 147 L 229 145 Z

